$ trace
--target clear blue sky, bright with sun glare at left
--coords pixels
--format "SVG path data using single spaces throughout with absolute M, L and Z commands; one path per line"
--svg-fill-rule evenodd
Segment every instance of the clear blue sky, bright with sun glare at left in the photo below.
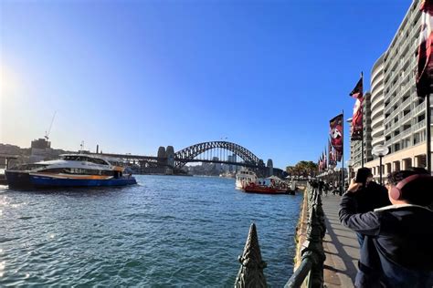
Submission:
M 156 155 L 225 139 L 284 168 L 329 120 L 411 0 L 0 1 L 0 142 Z M 344 127 L 344 159 L 349 130 Z

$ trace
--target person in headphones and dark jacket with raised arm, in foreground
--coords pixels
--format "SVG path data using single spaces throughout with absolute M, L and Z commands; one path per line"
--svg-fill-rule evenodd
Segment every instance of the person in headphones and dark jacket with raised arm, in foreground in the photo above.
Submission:
M 356 287 L 433 286 L 433 177 L 427 171 L 402 170 L 388 175 L 392 205 L 356 213 L 360 183 L 351 181 L 340 204 L 344 226 L 365 235 Z

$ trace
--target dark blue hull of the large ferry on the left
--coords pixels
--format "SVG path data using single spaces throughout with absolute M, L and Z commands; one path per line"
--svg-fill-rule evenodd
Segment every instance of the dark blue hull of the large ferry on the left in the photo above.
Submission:
M 62 187 L 110 187 L 137 184 L 133 177 L 111 179 L 68 179 L 49 176 L 30 175 L 28 172 L 7 172 L 9 188 L 62 188 Z

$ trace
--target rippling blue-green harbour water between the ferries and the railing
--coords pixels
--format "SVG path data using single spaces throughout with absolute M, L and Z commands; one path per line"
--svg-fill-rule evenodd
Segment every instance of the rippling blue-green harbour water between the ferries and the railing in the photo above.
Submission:
M 232 179 L 137 176 L 118 189 L 0 186 L 0 286 L 233 286 L 251 221 L 269 285 L 292 273 L 301 194 Z

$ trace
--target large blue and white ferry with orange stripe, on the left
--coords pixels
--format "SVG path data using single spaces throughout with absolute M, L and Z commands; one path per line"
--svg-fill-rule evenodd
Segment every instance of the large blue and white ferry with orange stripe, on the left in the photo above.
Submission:
M 124 175 L 119 159 L 97 155 L 63 154 L 60 159 L 23 164 L 5 170 L 9 188 L 100 187 L 137 184 Z

